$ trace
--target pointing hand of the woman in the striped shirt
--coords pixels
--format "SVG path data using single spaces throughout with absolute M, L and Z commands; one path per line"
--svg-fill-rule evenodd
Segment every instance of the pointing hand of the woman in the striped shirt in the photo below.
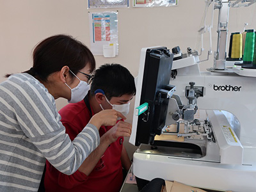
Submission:
M 89 124 L 95 125 L 98 129 L 100 129 L 100 126 L 102 125 L 113 126 L 116 124 L 116 120 L 118 117 L 123 118 L 124 120 L 126 119 L 126 117 L 122 115 L 122 113 L 114 109 L 105 109 L 93 115 Z

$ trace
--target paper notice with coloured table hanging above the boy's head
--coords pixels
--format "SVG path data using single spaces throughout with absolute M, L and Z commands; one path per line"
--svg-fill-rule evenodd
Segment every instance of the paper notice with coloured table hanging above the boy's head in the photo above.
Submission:
M 95 55 L 103 55 L 106 45 L 115 46 L 115 55 L 118 55 L 118 12 L 90 13 L 90 44 Z

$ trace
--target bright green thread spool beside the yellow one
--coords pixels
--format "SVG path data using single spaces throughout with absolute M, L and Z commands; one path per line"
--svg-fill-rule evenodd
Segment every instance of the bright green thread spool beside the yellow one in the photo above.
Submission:
M 255 33 L 247 31 L 245 44 L 244 44 L 244 56 L 243 56 L 244 64 L 252 64 L 254 44 L 255 44 Z

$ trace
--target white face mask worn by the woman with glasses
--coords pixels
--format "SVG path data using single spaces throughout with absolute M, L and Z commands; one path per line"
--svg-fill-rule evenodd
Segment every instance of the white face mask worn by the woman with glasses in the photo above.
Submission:
M 72 72 L 70 70 L 70 72 Z M 77 77 L 73 72 L 72 74 Z M 77 79 L 80 81 L 79 84 L 75 88 L 70 88 L 67 83 L 65 83 L 68 88 L 71 90 L 71 99 L 68 100 L 70 103 L 76 103 L 84 99 L 87 95 L 88 91 L 90 90 L 90 84 L 86 83 L 85 81 L 81 81 L 78 77 Z

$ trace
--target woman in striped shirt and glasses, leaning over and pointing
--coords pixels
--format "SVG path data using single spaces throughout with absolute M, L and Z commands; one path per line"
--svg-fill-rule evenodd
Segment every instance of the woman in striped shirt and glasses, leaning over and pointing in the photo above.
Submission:
M 30 70 L 0 84 L 0 191 L 37 191 L 45 158 L 62 173 L 76 172 L 99 145 L 99 127 L 125 118 L 104 110 L 74 141 L 65 134 L 54 99 L 83 100 L 93 70 L 95 59 L 85 45 L 56 35 L 35 47 Z

